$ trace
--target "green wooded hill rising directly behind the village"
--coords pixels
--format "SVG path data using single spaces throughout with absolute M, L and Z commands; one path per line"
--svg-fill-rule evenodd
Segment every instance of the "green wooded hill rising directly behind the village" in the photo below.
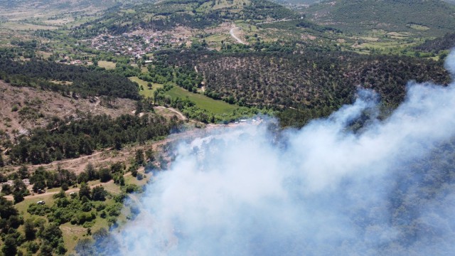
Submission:
M 138 29 L 170 31 L 177 26 L 203 29 L 238 20 L 274 21 L 296 17 L 293 11 L 264 0 L 184 0 L 139 4 L 130 9 L 113 9 L 102 18 L 79 26 L 77 37 L 119 34 Z

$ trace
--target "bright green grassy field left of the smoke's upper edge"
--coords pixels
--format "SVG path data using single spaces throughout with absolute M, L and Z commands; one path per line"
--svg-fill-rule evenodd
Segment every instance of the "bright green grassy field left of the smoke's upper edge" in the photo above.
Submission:
M 189 100 L 196 103 L 196 106 L 200 107 L 203 110 L 208 110 L 214 114 L 223 114 L 227 112 L 232 112 L 238 108 L 237 105 L 230 105 L 222 100 L 213 100 L 210 97 L 201 95 L 199 93 L 188 92 L 183 90 L 181 87 L 173 87 L 171 90 L 166 92 L 167 95 L 171 96 L 173 99 L 180 97 L 185 99 L 188 97 Z

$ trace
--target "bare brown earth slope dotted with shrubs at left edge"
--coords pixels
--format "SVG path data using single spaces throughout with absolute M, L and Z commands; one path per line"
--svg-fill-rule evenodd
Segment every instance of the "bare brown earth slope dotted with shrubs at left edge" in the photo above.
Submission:
M 0 130 L 10 136 L 26 133 L 33 127 L 43 127 L 53 116 L 77 118 L 80 114 L 91 113 L 117 117 L 134 109 L 133 100 L 117 99 L 112 107 L 105 107 L 98 97 L 76 100 L 58 92 L 14 87 L 0 80 Z

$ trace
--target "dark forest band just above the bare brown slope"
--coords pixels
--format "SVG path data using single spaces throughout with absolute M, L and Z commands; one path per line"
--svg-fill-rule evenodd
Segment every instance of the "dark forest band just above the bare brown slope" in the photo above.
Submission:
M 39 87 L 64 95 L 112 96 L 138 100 L 137 84 L 122 75 L 45 60 L 15 61 L 0 56 L 0 79 L 14 86 Z M 61 85 L 51 81 L 73 82 Z

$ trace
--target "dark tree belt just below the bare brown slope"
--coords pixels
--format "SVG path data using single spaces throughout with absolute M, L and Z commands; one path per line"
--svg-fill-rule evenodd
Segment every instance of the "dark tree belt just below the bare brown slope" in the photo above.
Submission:
M 45 128 L 31 130 L 19 137 L 9 152 L 13 164 L 43 164 L 51 161 L 90 155 L 95 149 L 122 149 L 122 144 L 157 139 L 176 130 L 176 119 L 144 114 L 122 115 L 112 119 L 106 115 L 87 116 L 80 120 L 55 118 Z

